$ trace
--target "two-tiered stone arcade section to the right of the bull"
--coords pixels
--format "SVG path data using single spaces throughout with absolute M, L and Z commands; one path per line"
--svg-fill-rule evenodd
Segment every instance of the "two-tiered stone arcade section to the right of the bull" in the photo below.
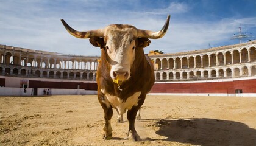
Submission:
M 256 75 L 256 41 L 178 54 L 150 56 L 156 80 L 207 80 Z

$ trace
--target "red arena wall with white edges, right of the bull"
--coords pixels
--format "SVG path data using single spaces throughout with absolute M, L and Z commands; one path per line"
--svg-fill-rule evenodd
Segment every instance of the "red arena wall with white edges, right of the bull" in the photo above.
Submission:
M 191 82 L 155 82 L 151 94 L 256 97 L 256 77 Z

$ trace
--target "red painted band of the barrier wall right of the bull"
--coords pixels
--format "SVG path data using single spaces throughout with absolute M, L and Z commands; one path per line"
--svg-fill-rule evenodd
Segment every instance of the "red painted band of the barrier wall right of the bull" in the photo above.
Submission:
M 256 93 L 256 79 L 235 80 L 229 82 L 203 83 L 155 83 L 151 93 L 235 93 L 241 89 L 243 93 Z

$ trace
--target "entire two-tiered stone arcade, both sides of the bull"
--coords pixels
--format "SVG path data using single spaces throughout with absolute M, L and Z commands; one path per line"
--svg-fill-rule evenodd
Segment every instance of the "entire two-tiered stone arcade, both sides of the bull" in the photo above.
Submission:
M 256 41 L 177 54 L 150 55 L 155 78 L 207 80 L 256 75 Z M 63 55 L 0 45 L 0 74 L 15 77 L 96 80 L 100 57 Z

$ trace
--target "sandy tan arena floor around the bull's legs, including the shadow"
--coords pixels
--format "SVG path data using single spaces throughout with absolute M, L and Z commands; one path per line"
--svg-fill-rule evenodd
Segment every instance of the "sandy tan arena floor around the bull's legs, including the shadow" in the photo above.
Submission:
M 0 97 L 0 145 L 256 145 L 256 97 L 147 96 L 140 142 L 113 113 L 105 141 L 96 96 Z

